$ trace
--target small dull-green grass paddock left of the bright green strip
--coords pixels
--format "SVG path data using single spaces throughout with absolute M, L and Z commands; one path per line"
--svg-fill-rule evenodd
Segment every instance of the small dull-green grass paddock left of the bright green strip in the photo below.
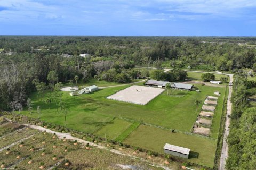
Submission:
M 96 131 L 94 134 L 107 139 L 115 139 L 120 135 L 125 129 L 127 129 L 132 123 L 115 118 L 113 121 L 108 122 L 101 129 Z

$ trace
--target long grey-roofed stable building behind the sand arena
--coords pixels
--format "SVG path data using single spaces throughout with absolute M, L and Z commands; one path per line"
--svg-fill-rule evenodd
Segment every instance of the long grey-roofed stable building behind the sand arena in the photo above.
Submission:
M 167 83 L 171 83 L 171 82 L 169 82 L 169 81 L 148 80 L 145 83 L 145 85 L 147 85 L 147 86 L 157 86 L 157 87 L 160 87 L 160 88 L 165 88 Z M 193 85 L 191 85 L 191 84 L 183 84 L 183 83 L 171 83 L 171 87 L 173 89 L 191 91 L 192 88 L 193 88 Z

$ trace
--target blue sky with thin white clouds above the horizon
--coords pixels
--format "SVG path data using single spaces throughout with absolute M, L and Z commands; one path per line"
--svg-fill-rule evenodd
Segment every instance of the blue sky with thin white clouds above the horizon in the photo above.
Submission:
M 256 1 L 0 0 L 0 35 L 256 36 Z

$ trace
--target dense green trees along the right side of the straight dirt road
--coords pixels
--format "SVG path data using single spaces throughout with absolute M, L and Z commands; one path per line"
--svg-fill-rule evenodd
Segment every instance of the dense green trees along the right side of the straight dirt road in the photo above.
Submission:
M 256 93 L 255 87 L 255 81 L 247 80 L 247 73 L 236 73 L 231 99 L 233 108 L 228 136 L 227 169 L 255 169 L 256 107 L 248 102 L 248 97 Z

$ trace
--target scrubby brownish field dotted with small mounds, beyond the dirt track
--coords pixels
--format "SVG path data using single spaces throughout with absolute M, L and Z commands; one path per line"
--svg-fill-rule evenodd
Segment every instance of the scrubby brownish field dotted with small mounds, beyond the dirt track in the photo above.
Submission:
M 44 169 L 54 169 L 54 167 L 55 169 L 122 169 L 118 167 L 118 164 L 132 165 L 140 169 L 161 169 L 145 164 L 145 162 L 138 159 L 114 154 L 108 150 L 92 146 L 89 146 L 90 149 L 87 150 L 83 144 L 74 145 L 74 141 L 62 141 L 61 139 L 53 138 L 53 134 L 50 133 L 44 134 L 34 129 L 23 129 L 19 133 L 26 133 L 26 131 L 33 131 L 34 135 L 23 141 L 23 147 L 20 147 L 20 143 L 18 143 L 9 147 L 9 154 L 6 154 L 7 149 L 0 151 L 0 162 L 1 164 L 4 162 L 5 168 L 39 169 L 44 163 Z M 8 141 L 6 145 L 13 143 L 11 138 L 15 139 L 18 134 L 6 138 L 6 141 Z M 0 133 L 0 137 L 2 137 L 2 133 Z M 31 150 L 32 146 L 34 150 Z M 53 148 L 53 146 L 56 147 Z M 65 152 L 66 148 L 67 151 Z M 43 152 L 45 155 L 42 156 Z M 17 158 L 18 155 L 20 158 Z M 57 160 L 53 160 L 54 156 Z M 30 159 L 32 163 L 28 164 Z M 69 163 L 68 166 L 65 165 L 67 162 Z M 170 167 L 179 169 L 179 165 L 176 163 L 171 163 Z

